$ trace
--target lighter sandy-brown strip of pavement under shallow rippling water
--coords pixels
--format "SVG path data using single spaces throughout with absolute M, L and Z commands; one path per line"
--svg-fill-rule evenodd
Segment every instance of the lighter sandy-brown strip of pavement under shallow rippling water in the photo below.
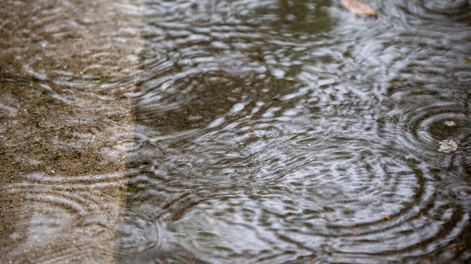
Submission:
M 129 6 L 0 3 L 1 263 L 118 253 L 140 48 Z

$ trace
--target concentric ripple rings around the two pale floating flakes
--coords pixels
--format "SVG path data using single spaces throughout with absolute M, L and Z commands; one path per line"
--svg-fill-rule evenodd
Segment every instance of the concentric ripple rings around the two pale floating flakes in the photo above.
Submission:
M 411 96 L 418 89 L 409 87 L 395 92 L 394 96 L 404 99 L 400 99 L 398 107 L 388 113 L 386 125 L 380 132 L 395 137 L 393 147 L 413 153 L 414 158 L 427 161 L 436 168 L 452 166 L 466 175 L 470 172 L 467 153 L 471 136 L 467 99 L 452 97 L 453 101 L 450 101 L 444 92 L 438 96 L 432 89 L 429 89 L 429 94 Z M 418 102 L 412 104 L 410 100 Z M 442 140 L 454 140 L 459 147 L 451 155 L 437 155 Z

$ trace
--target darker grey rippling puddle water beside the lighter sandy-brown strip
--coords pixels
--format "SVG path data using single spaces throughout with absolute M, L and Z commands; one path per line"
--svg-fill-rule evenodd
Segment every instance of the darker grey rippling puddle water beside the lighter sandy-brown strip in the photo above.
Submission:
M 470 257 L 469 1 L 371 4 L 146 1 L 122 262 Z

